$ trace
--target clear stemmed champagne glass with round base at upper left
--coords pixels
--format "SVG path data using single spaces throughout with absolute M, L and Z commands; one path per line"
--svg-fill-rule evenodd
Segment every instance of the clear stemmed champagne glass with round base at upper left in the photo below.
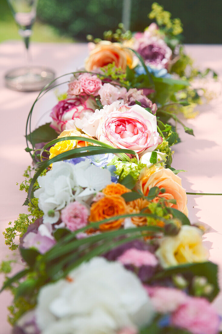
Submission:
M 32 25 L 36 18 L 38 0 L 7 0 L 11 8 L 18 32 L 24 40 L 26 49 L 26 66 L 10 70 L 5 75 L 8 88 L 17 91 L 38 91 L 54 79 L 55 73 L 42 66 L 30 65 L 29 41 L 32 34 Z

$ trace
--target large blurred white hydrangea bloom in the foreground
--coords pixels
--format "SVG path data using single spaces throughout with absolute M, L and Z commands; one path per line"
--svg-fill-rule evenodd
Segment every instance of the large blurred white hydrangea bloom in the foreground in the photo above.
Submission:
M 69 280 L 40 290 L 36 320 L 42 334 L 114 334 L 148 325 L 154 308 L 141 282 L 118 262 L 93 258 Z

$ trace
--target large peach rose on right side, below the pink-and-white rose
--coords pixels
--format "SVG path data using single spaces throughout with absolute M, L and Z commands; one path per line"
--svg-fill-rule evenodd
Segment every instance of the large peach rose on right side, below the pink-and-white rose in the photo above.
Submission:
M 175 175 L 171 169 L 157 166 L 145 168 L 140 174 L 138 185 L 145 196 L 149 194 L 152 187 L 164 188 L 165 192 L 159 194 L 159 197 L 175 199 L 176 204 L 169 203 L 169 205 L 183 212 L 186 216 L 188 215 L 186 191 L 182 187 L 181 178 Z M 153 201 L 157 202 L 158 197 Z

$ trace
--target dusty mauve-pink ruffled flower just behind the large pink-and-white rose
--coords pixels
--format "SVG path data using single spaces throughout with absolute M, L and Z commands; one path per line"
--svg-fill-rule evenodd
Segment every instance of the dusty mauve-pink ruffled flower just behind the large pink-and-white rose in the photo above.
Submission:
M 124 103 L 127 103 L 128 106 L 133 106 L 136 101 L 140 102 L 143 108 L 150 108 L 152 113 L 156 114 L 157 105 L 144 95 L 143 90 L 138 91 L 136 88 L 130 88 L 124 96 Z

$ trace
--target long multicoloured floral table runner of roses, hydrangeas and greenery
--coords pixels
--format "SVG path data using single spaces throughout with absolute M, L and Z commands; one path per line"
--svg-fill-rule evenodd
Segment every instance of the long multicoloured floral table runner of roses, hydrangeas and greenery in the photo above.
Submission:
M 188 103 L 189 82 L 172 76 L 167 37 L 181 25 L 161 8 L 151 16 L 164 29 L 91 44 L 51 122 L 28 134 L 35 103 L 29 113 L 30 213 L 4 232 L 24 269 L 9 278 L 14 261 L 1 265 L 15 334 L 219 333 L 217 266 L 188 219 L 185 171 L 171 167 L 182 122 L 169 107 Z

